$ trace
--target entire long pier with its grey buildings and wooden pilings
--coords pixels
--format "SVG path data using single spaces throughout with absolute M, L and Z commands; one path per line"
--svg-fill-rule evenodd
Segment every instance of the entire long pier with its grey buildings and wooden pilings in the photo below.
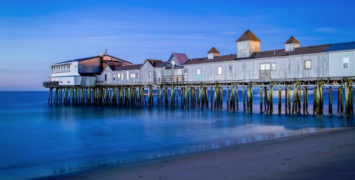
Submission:
M 170 107 L 174 107 L 178 104 L 177 94 L 180 92 L 182 108 L 208 108 L 210 97 L 210 108 L 214 109 L 221 108 L 225 91 L 227 108 L 231 110 L 238 108 L 236 94 L 242 90 L 246 96 L 244 111 L 248 112 L 252 112 L 252 90 L 260 87 L 264 113 L 273 113 L 272 90 L 278 87 L 286 94 L 286 113 L 292 114 L 301 113 L 301 97 L 303 114 L 308 113 L 307 92 L 308 87 L 312 87 L 316 94 L 313 113 L 318 116 L 323 113 L 322 94 L 327 87 L 330 93 L 332 88 L 345 89 L 346 115 L 353 113 L 355 42 L 302 47 L 291 36 L 285 40 L 284 49 L 261 51 L 261 40 L 251 30 L 246 30 L 235 43 L 235 54 L 220 55 L 217 48 L 212 47 L 206 57 L 188 58 L 184 53 L 173 52 L 165 62 L 144 60 L 142 64 L 132 64 L 107 53 L 60 62 L 52 65 L 52 74 L 43 86 L 50 88 L 50 92 L 58 90 L 56 101 L 62 96 L 62 91 L 67 91 L 67 96 L 71 97 L 76 92 L 79 95 L 75 96 L 83 94 L 83 103 L 141 104 L 148 96 L 148 105 L 152 106 L 153 96 L 156 96 L 158 106 L 163 105 L 164 99 L 165 106 L 170 101 Z M 211 94 L 207 94 L 207 88 Z M 148 94 L 144 89 L 148 89 Z M 153 89 L 157 94 L 153 94 Z M 344 103 L 342 91 L 338 91 L 338 97 L 339 102 Z M 339 108 L 341 113 L 343 105 L 339 105 L 342 106 Z

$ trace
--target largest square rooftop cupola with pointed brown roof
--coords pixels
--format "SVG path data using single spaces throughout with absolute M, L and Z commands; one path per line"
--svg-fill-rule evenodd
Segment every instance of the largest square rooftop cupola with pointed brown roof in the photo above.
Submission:
M 250 57 L 254 52 L 260 52 L 260 43 L 261 40 L 251 33 L 251 30 L 246 30 L 236 40 L 236 58 Z

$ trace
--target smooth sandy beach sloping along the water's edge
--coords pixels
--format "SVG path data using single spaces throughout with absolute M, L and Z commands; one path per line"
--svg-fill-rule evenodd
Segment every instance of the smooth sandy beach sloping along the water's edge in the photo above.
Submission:
M 354 177 L 355 128 L 339 128 L 47 179 L 354 179 Z

